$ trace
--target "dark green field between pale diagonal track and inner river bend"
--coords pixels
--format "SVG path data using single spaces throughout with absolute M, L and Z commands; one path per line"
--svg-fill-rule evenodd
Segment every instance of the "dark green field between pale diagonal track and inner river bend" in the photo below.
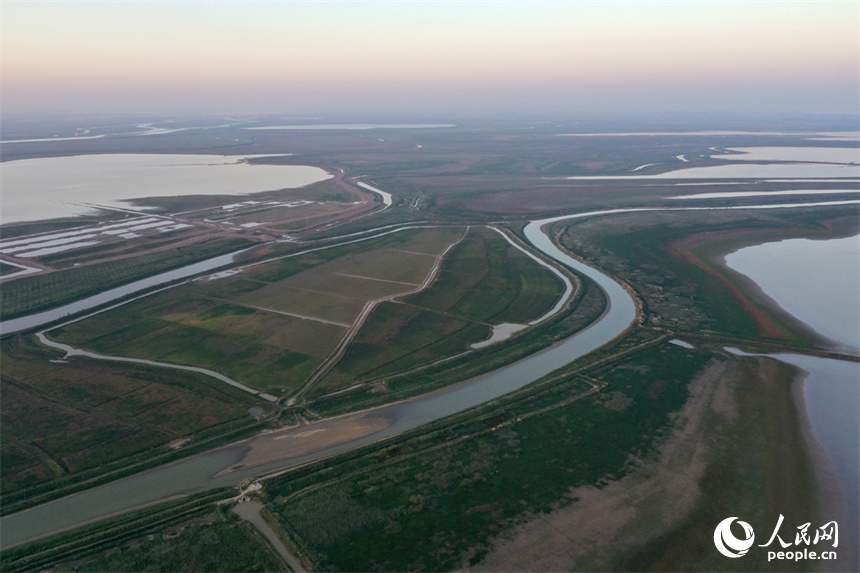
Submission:
M 336 391 L 467 352 L 490 326 L 547 312 L 562 282 L 497 232 L 473 227 L 431 287 L 380 304 L 319 392 Z

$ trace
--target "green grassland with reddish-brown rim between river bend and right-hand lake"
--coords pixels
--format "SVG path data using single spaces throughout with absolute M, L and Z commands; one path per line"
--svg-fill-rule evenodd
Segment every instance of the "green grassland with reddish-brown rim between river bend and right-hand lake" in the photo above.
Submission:
M 765 240 L 842 236 L 856 229 L 856 219 L 839 208 L 640 213 L 572 224 L 562 243 L 635 285 L 646 324 L 809 347 L 820 344 L 815 334 L 756 296 L 745 277 L 720 264 L 721 257 Z

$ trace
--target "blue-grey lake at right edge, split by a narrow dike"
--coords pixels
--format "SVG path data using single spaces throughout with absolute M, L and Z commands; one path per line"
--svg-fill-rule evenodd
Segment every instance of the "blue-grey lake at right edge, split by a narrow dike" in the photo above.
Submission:
M 860 236 L 765 243 L 728 255 L 726 263 L 793 316 L 847 351 L 860 353 Z M 857 546 L 860 364 L 798 354 L 771 356 L 807 373 L 803 398 L 809 425 L 833 465 L 846 507 L 844 525 Z

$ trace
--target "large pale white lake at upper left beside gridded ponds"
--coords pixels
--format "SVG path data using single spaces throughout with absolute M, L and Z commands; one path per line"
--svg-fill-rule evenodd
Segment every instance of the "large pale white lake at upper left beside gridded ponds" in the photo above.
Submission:
M 319 167 L 250 165 L 221 155 L 116 154 L 0 163 L 0 224 L 83 215 L 92 205 L 182 195 L 244 195 L 330 179 Z M 89 205 L 88 205 L 89 204 Z

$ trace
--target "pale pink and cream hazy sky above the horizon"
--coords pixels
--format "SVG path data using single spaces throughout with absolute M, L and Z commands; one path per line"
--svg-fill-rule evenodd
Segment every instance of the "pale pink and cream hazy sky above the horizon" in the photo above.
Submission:
M 7 114 L 857 115 L 860 2 L 0 2 Z

